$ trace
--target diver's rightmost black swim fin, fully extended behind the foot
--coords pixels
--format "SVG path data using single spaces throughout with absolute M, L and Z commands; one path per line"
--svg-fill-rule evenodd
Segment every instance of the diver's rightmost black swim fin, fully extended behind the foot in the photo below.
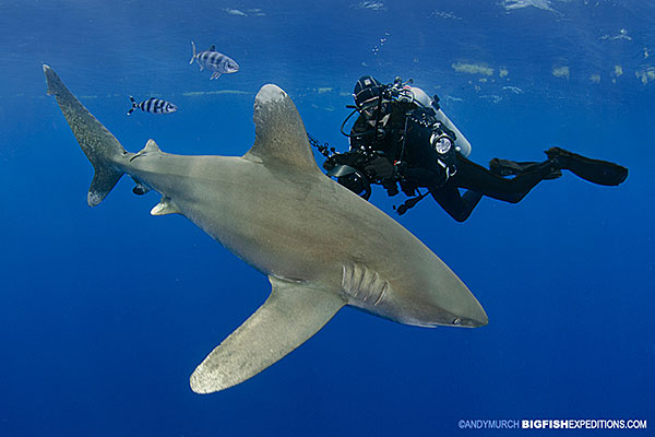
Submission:
M 628 177 L 628 168 L 608 161 L 593 160 L 560 147 L 550 147 L 545 153 L 558 168 L 570 170 L 590 182 L 617 186 Z

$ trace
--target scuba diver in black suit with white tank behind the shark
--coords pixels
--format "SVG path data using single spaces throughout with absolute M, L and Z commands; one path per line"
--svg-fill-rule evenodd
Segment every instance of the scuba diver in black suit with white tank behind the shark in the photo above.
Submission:
M 353 93 L 355 106 L 348 106 L 353 111 L 341 128 L 349 138 L 349 151 L 330 153 L 319 146 L 327 176 L 367 200 L 371 184 L 384 187 L 389 196 L 396 196 L 400 186 L 409 197 L 396 210 L 401 215 L 431 194 L 454 220 L 464 222 L 483 196 L 517 203 L 541 180 L 560 177 L 562 169 L 605 186 L 617 186 L 628 176 L 626 167 L 560 147 L 546 151 L 548 158 L 540 163 L 493 158 L 487 169 L 467 158 L 471 143 L 441 110 L 439 98 L 410 83 L 360 78 Z M 355 114 L 359 116 L 350 132 L 344 132 Z

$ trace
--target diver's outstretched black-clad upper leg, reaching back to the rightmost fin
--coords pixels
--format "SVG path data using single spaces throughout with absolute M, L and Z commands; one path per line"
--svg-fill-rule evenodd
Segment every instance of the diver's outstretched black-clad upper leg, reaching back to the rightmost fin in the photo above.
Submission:
M 457 155 L 456 167 L 457 173 L 451 179 L 457 187 L 510 203 L 520 202 L 529 190 L 557 168 L 548 160 L 520 173 L 512 179 L 507 179 L 461 155 Z

